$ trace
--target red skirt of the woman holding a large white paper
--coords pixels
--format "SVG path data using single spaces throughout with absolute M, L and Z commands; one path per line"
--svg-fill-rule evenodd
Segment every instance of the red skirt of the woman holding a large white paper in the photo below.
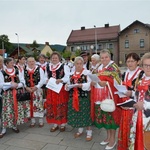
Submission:
M 45 102 L 47 123 L 63 124 L 67 123 L 69 92 L 65 91 L 64 86 L 60 93 L 47 89 Z

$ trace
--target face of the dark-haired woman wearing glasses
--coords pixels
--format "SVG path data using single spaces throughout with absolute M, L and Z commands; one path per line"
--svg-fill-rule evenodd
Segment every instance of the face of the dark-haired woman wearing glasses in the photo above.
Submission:
M 130 71 L 133 71 L 137 68 L 139 61 L 136 61 L 132 57 L 128 58 L 126 61 L 127 67 Z

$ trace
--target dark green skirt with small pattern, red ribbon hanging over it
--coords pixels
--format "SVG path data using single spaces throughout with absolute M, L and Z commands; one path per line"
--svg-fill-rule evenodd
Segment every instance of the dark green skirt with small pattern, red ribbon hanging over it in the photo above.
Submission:
M 72 127 L 87 127 L 92 125 L 90 117 L 90 99 L 87 97 L 79 97 L 79 111 L 75 111 L 72 107 L 72 98 L 68 103 L 68 124 Z

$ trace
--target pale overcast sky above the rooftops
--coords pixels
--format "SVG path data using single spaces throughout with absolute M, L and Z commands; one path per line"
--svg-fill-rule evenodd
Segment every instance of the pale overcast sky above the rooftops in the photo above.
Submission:
M 82 26 L 123 30 L 135 20 L 150 24 L 150 0 L 0 0 L 0 35 L 11 43 L 66 45 Z

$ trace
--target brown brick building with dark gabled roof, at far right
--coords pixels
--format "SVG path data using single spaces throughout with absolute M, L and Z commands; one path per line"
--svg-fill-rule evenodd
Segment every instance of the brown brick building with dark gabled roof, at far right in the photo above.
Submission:
M 125 65 L 128 53 L 135 52 L 140 57 L 150 52 L 150 24 L 138 20 L 119 33 L 119 63 Z

